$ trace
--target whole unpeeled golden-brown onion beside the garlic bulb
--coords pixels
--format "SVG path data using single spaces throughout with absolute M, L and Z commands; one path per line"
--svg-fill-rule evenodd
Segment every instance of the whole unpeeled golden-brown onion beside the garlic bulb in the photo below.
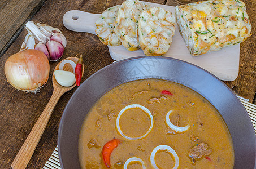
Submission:
M 29 49 L 10 56 L 5 63 L 7 81 L 18 90 L 38 92 L 48 80 L 50 65 L 41 51 Z

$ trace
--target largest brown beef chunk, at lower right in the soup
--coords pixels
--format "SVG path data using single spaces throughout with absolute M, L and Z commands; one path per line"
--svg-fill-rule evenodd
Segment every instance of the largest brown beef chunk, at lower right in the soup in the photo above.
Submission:
M 207 155 L 210 155 L 212 150 L 209 148 L 208 144 L 206 143 L 200 143 L 196 146 L 193 146 L 188 151 L 188 157 L 192 159 L 192 163 L 196 163 L 196 159 L 201 159 L 202 157 L 205 157 Z

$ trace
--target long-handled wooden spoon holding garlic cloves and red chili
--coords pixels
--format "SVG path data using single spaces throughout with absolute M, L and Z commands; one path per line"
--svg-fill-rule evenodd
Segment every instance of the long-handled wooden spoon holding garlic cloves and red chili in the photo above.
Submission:
M 74 61 L 77 63 L 78 59 L 77 57 L 68 57 L 67 59 Z M 66 59 L 64 59 L 66 60 Z M 63 61 L 63 60 L 62 60 Z M 60 62 L 61 63 L 61 62 Z M 59 64 L 60 64 L 59 63 Z M 54 70 L 59 69 L 59 64 L 55 67 Z M 64 65 L 64 70 L 71 71 L 73 70 L 72 66 L 70 64 Z M 83 64 L 83 74 L 84 74 L 84 64 Z M 19 150 L 18 154 L 16 155 L 14 162 L 12 162 L 11 167 L 22 169 L 26 168 L 28 165 L 29 160 L 31 159 L 34 150 L 36 149 L 36 146 L 41 139 L 42 134 L 45 131 L 46 125 L 49 122 L 49 119 L 51 117 L 51 113 L 53 112 L 53 109 L 55 105 L 58 103 L 58 100 L 60 97 L 67 91 L 71 90 L 73 87 L 76 86 L 76 83 L 73 84 L 73 86 L 70 87 L 63 87 L 61 86 L 55 79 L 54 73 L 53 73 L 53 95 L 51 96 L 48 104 L 46 105 L 44 111 L 38 118 L 36 124 L 34 124 L 34 127 L 32 128 L 32 131 L 28 135 L 27 139 L 25 140 L 24 144 L 21 146 L 21 149 Z

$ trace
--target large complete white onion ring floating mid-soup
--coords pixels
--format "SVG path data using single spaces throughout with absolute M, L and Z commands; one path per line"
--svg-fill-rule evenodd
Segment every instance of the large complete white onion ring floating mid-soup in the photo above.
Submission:
M 146 112 L 147 114 L 149 114 L 149 117 L 150 117 L 150 121 L 151 121 L 151 124 L 150 124 L 150 128 L 149 130 L 146 132 L 145 135 L 143 136 L 140 136 L 140 137 L 128 137 L 128 136 L 125 136 L 119 126 L 119 119 L 121 117 L 121 115 L 128 109 L 132 109 L 132 108 L 139 108 L 141 110 L 143 110 L 144 112 Z M 152 130 L 153 128 L 153 124 L 154 124 L 154 119 L 153 119 L 153 116 L 151 114 L 151 112 L 149 111 L 149 109 L 145 108 L 144 106 L 140 105 L 140 104 L 131 104 L 131 105 L 128 105 L 126 106 L 125 108 L 123 108 L 119 113 L 118 113 L 118 117 L 116 118 L 116 128 L 118 128 L 118 132 L 125 138 L 125 139 L 128 139 L 128 140 L 138 140 L 138 139 L 142 139 L 144 137 L 146 137 L 149 132 Z

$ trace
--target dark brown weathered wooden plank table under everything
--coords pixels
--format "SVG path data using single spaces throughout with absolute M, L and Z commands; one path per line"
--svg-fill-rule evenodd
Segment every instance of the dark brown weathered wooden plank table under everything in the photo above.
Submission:
M 165 5 L 181 5 L 190 0 L 147 0 Z M 241 44 L 240 72 L 233 82 L 224 82 L 237 95 L 255 103 L 256 92 L 256 3 L 244 0 L 253 26 L 253 35 Z M 50 77 L 47 84 L 37 94 L 27 94 L 12 87 L 4 73 L 8 57 L 19 51 L 27 34 L 24 29 L 29 20 L 45 23 L 62 30 L 67 38 L 63 58 L 83 54 L 85 74 L 90 77 L 97 70 L 112 63 L 107 46 L 98 37 L 89 33 L 71 32 L 62 23 L 62 17 L 69 10 L 101 13 L 106 8 L 121 4 L 113 0 L 2 0 L 0 2 L 0 168 L 11 168 L 11 163 L 44 110 L 53 87 L 51 75 L 59 62 L 50 63 Z M 60 59 L 60 60 L 62 60 Z M 57 145 L 60 117 L 76 87 L 64 94 L 55 106 L 44 134 L 27 168 L 42 168 Z

